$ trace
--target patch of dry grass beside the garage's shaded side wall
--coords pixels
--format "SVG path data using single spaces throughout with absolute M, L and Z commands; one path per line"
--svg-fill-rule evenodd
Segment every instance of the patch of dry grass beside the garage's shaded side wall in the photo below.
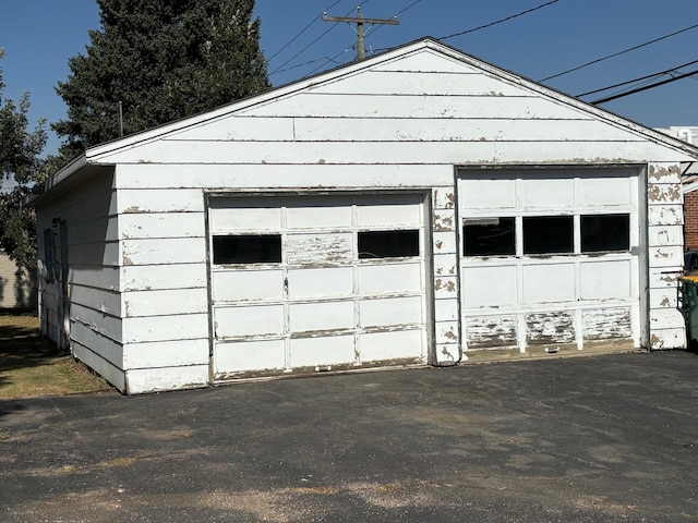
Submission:
M 0 400 L 97 392 L 109 385 L 44 338 L 31 314 L 0 314 Z

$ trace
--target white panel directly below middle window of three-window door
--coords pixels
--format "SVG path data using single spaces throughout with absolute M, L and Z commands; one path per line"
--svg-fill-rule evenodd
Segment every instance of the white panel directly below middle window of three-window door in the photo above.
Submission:
M 525 265 L 521 272 L 524 304 L 575 300 L 574 263 Z

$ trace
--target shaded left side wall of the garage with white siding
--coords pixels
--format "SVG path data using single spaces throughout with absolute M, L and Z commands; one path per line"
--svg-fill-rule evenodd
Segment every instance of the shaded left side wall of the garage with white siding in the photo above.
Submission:
M 79 184 L 61 198 L 51 199 L 37 214 L 39 257 L 39 316 L 41 329 L 57 340 L 59 285 L 47 281 L 44 231 L 58 234 L 52 224 L 65 223 L 69 270 L 65 313 L 73 354 L 120 387 L 121 297 L 119 295 L 119 243 L 117 218 L 109 214 L 115 199 L 110 170 Z M 123 390 L 120 387 L 120 390 Z

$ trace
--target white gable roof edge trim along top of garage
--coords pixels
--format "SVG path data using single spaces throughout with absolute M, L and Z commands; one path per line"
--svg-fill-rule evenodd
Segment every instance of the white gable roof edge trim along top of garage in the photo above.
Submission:
M 72 177 L 75 172 L 84 170 L 89 166 L 111 166 L 115 161 L 112 156 L 121 150 L 125 150 L 132 147 L 139 147 L 161 139 L 169 135 L 184 132 L 188 129 L 192 129 L 197 125 L 225 119 L 226 117 L 232 115 L 234 113 L 254 110 L 255 108 L 263 107 L 264 105 L 267 105 L 269 102 L 292 97 L 300 92 L 310 92 L 312 89 L 318 88 L 320 86 L 329 85 L 338 80 L 351 77 L 352 75 L 356 75 L 365 70 L 375 70 L 376 68 L 382 66 L 387 68 L 392 62 L 405 60 L 406 58 L 410 57 L 412 59 L 417 59 L 417 57 L 419 56 L 426 56 L 426 59 L 430 60 L 434 60 L 434 57 L 441 58 L 442 60 L 438 61 L 438 65 L 441 68 L 448 68 L 449 65 L 447 64 L 447 61 L 450 61 L 450 63 L 453 63 L 452 66 L 454 68 L 454 71 L 457 68 L 460 68 L 460 70 L 462 70 L 462 68 L 471 68 L 473 70 L 477 70 L 478 72 L 486 74 L 492 78 L 502 81 L 502 83 L 504 84 L 508 84 L 509 86 L 527 90 L 547 100 L 555 101 L 558 105 L 566 106 L 567 108 L 580 113 L 586 113 L 588 117 L 594 120 L 606 122 L 616 127 L 622 127 L 636 136 L 642 137 L 643 139 L 679 151 L 684 157 L 687 156 L 689 158 L 698 159 L 698 147 L 691 144 L 687 144 L 682 139 L 674 138 L 664 133 L 658 132 L 653 129 L 614 114 L 607 110 L 580 101 L 574 97 L 570 97 L 569 95 L 563 94 L 551 87 L 543 86 L 534 81 L 528 80 L 505 69 L 492 65 L 456 48 L 442 44 L 432 37 L 425 37 L 388 50 L 381 54 L 373 56 L 361 62 L 341 65 L 334 70 L 320 73 L 315 76 L 269 89 L 260 95 L 234 101 L 232 104 L 219 107 L 205 113 L 189 117 L 137 134 L 133 134 L 131 136 L 89 147 L 81 157 L 74 159 L 72 162 L 58 171 L 53 177 L 51 177 L 51 179 L 46 182 L 43 188 L 49 190 L 52 186 L 61 184 L 67 179 Z

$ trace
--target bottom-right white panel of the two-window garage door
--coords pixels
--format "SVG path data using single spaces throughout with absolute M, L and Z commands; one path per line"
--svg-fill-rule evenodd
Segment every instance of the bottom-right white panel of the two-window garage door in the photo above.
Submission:
M 365 332 L 359 335 L 361 363 L 390 360 L 424 360 L 424 332 L 406 329 L 393 332 Z

